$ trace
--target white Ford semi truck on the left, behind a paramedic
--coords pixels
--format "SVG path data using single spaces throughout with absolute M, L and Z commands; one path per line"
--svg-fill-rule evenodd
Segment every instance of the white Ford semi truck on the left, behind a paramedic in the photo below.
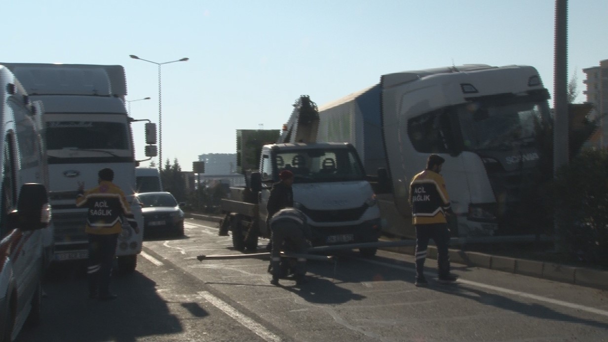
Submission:
M 119 65 L 1 63 L 21 80 L 32 100 L 41 101 L 40 125 L 46 145 L 50 203 L 55 226 L 55 260 L 85 259 L 86 209 L 76 208 L 79 183 L 97 185 L 97 172 L 114 170 L 114 183 L 125 191 L 137 224 L 140 204 L 133 200 L 135 153 L 125 108 L 125 71 Z M 123 225 L 116 255 L 122 271 L 133 271 L 142 249 L 142 233 Z

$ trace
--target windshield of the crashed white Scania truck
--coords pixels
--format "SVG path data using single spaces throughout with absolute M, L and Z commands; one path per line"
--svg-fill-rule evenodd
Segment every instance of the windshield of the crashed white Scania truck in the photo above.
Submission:
M 549 117 L 547 102 L 468 103 L 456 108 L 468 151 L 534 146 L 535 122 Z

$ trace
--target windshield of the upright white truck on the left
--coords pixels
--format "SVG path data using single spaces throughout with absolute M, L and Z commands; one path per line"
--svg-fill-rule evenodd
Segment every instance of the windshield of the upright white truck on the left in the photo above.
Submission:
M 48 150 L 127 150 L 127 132 L 120 122 L 53 121 L 46 123 L 46 145 Z

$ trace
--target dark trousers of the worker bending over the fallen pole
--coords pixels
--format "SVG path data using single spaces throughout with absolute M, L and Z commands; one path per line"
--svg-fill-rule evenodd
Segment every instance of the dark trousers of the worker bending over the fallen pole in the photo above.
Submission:
M 272 223 L 272 252 L 271 267 L 272 276 L 280 277 L 280 263 L 282 248 L 288 249 L 293 253 L 306 253 L 309 243 L 304 237 L 302 227 L 299 223 L 292 220 L 277 220 Z M 294 275 L 303 276 L 306 274 L 306 259 L 297 258 L 294 268 Z

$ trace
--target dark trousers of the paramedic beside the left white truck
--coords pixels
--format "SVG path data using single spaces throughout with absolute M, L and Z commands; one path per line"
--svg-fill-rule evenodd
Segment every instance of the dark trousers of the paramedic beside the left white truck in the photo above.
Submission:
M 108 295 L 118 234 L 87 234 L 89 237 L 89 293 Z

